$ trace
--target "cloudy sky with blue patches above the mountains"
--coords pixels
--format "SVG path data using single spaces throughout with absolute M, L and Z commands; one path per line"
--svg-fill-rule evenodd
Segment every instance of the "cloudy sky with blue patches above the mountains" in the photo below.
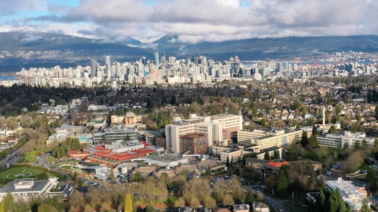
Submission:
M 0 31 L 221 42 L 378 34 L 378 0 L 0 0 Z

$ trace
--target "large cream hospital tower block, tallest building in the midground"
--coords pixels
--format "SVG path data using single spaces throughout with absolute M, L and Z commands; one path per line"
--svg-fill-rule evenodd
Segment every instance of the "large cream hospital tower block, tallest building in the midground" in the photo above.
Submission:
M 175 153 L 180 153 L 180 136 L 188 134 L 205 134 L 209 152 L 213 144 L 231 138 L 231 132 L 242 129 L 242 116 L 220 114 L 213 116 L 197 116 L 190 114 L 189 119 L 173 118 L 173 124 L 165 126 L 166 147 Z

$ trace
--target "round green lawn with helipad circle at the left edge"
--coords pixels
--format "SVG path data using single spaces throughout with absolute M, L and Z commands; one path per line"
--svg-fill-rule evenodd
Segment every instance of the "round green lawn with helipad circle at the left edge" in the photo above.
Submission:
M 0 172 L 0 177 L 5 183 L 11 182 L 15 179 L 24 179 L 24 178 L 36 178 L 37 175 L 41 172 L 47 172 L 46 169 L 42 167 L 32 167 L 27 165 L 15 165 L 9 169 L 3 170 Z M 48 171 L 48 176 L 59 176 L 58 173 Z

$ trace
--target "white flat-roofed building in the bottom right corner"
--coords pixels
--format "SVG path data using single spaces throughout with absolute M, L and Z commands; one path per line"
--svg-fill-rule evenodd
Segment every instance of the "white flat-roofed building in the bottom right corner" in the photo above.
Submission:
M 344 181 L 341 177 L 334 181 L 326 181 L 326 185 L 330 190 L 339 190 L 347 207 L 350 207 L 352 212 L 357 212 L 362 206 L 362 200 L 367 197 L 367 192 L 364 187 L 357 187 L 349 181 Z M 369 208 L 371 203 L 368 203 Z

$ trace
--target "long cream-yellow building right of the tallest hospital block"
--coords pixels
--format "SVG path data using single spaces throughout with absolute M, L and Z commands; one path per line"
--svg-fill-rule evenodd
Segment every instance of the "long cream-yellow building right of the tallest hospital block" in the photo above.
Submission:
M 237 143 L 249 145 L 257 145 L 254 148 L 266 149 L 273 146 L 285 146 L 297 143 L 301 140 L 301 129 L 267 129 L 252 131 L 238 130 Z

